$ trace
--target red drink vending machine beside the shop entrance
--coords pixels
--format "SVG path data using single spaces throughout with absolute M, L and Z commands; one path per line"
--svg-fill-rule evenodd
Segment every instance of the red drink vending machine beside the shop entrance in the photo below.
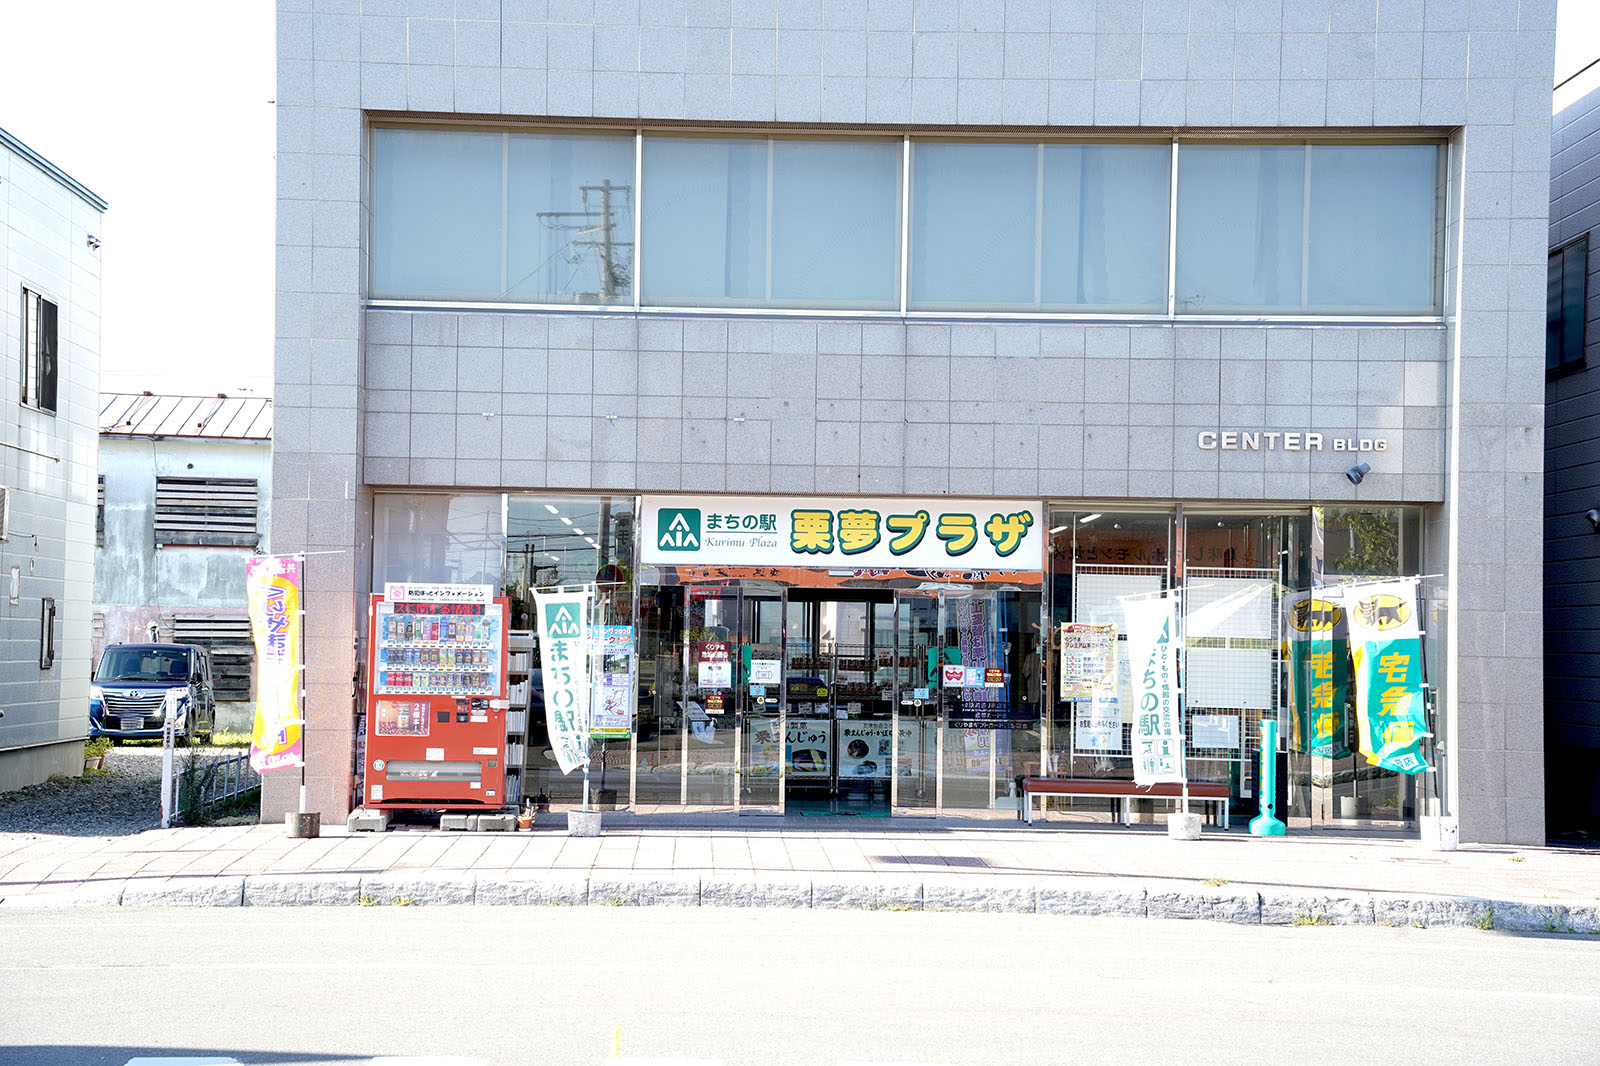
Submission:
M 390 583 L 366 653 L 366 807 L 506 800 L 507 602 L 486 584 Z

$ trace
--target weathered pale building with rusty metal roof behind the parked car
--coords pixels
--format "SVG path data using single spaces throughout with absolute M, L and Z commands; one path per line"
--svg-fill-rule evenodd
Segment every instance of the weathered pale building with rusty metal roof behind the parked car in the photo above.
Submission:
M 245 560 L 266 546 L 270 501 L 270 399 L 101 395 L 94 661 L 107 643 L 205 645 L 216 727 L 248 733 Z

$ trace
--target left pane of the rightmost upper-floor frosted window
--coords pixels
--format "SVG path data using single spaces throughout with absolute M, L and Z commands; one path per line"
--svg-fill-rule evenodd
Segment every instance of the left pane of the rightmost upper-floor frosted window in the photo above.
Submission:
M 1306 147 L 1178 152 L 1178 312 L 1299 311 Z

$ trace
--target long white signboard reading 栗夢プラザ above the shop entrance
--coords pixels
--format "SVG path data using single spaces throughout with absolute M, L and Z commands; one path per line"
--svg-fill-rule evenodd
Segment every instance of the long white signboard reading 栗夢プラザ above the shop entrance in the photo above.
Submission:
M 1037 501 L 645 496 L 640 562 L 1043 570 Z

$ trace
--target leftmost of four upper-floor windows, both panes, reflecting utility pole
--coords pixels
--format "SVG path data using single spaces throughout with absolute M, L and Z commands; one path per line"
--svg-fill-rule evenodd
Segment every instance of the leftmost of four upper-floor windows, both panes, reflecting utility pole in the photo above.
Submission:
M 634 138 L 378 130 L 373 296 L 632 304 Z

